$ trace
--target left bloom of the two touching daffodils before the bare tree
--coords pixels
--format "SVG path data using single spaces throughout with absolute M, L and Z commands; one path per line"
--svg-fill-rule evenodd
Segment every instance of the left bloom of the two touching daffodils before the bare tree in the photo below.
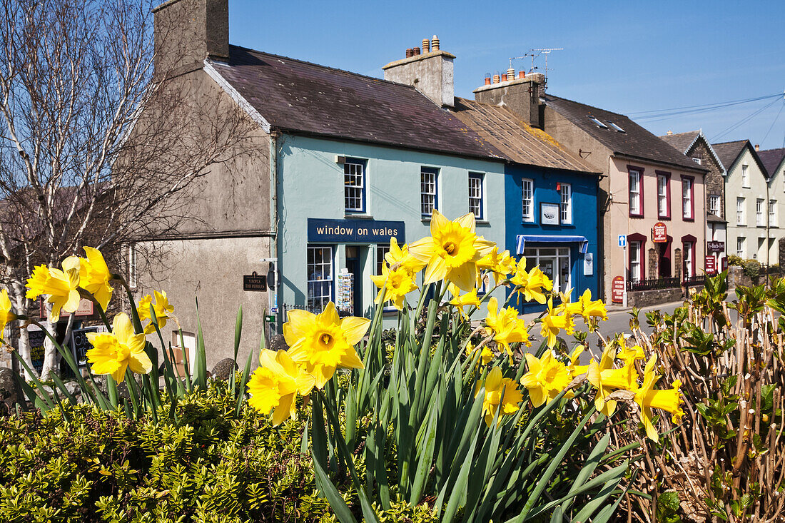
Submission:
M 79 258 L 69 256 L 63 260 L 63 269 L 49 269 L 38 265 L 27 280 L 27 298 L 35 299 L 41 294 L 49 294 L 46 302 L 52 304 L 49 321 L 60 320 L 60 309 L 75 313 L 79 309 Z

